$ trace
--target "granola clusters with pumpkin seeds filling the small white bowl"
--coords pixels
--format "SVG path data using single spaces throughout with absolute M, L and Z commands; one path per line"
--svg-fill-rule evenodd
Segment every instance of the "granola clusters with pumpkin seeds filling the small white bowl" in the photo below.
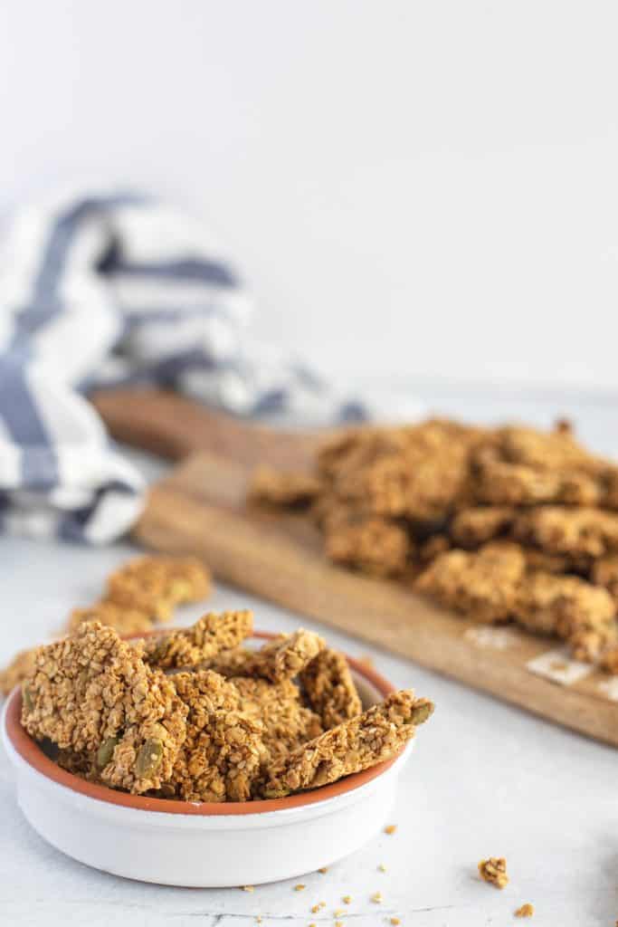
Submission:
M 133 641 L 84 621 L 31 652 L 21 723 L 89 781 L 244 802 L 396 756 L 433 711 L 405 690 L 363 712 L 347 660 L 317 634 L 299 629 L 253 651 L 242 646 L 252 632 L 246 611 Z

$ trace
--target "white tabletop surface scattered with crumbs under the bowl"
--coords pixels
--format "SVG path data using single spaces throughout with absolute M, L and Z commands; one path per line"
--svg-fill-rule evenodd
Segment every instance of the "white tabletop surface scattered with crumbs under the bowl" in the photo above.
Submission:
M 478 419 L 484 410 L 474 413 Z M 536 413 L 544 414 L 538 406 Z M 593 418 L 586 425 L 591 433 Z M 2 539 L 0 552 L 4 663 L 58 629 L 71 607 L 95 599 L 109 570 L 132 549 Z M 349 654 L 372 654 L 388 679 L 435 700 L 435 716 L 420 731 L 399 784 L 397 832 L 376 835 L 326 874 L 310 873 L 302 892 L 294 890 L 298 880 L 258 886 L 252 894 L 129 882 L 64 857 L 32 831 L 0 749 L 0 923 L 249 927 L 261 916 L 263 927 L 335 920 L 370 927 L 397 916 L 410 927 L 612 927 L 618 916 L 618 756 L 612 748 L 245 592 L 219 587 L 209 606 L 252 607 L 263 629 L 291 630 L 302 621 Z M 198 613 L 199 607 L 185 609 L 183 622 Z M 511 883 L 502 892 L 478 879 L 477 861 L 487 856 L 507 858 Z M 371 900 L 377 891 L 381 905 Z M 343 895 L 351 895 L 350 905 Z M 326 907 L 310 913 L 322 900 Z M 535 905 L 532 921 L 513 919 L 524 902 Z M 337 908 L 346 914 L 335 918 Z

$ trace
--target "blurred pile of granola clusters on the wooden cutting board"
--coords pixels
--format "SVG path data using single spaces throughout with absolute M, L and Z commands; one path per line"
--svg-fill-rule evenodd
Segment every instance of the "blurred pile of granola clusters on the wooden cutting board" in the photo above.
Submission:
M 249 499 L 305 511 L 335 564 L 558 637 L 618 673 L 618 465 L 566 422 L 354 428 L 310 475 L 260 469 Z

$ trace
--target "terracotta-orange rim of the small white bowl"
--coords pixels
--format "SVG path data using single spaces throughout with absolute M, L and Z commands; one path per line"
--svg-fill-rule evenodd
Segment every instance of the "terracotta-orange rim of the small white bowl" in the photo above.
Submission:
M 148 637 L 152 634 L 165 633 L 168 629 L 153 629 L 145 634 L 134 635 L 138 637 Z M 255 630 L 251 638 L 269 641 L 276 637 L 270 631 Z M 370 682 L 372 686 L 380 692 L 383 698 L 390 692 L 395 692 L 395 686 L 387 679 L 377 673 L 372 667 L 367 667 L 359 659 L 344 654 L 348 666 L 353 669 L 361 678 Z M 64 786 L 71 792 L 85 795 L 88 798 L 94 798 L 97 801 L 105 802 L 107 805 L 116 805 L 129 807 L 138 811 L 154 811 L 165 814 L 176 815 L 197 815 L 201 817 L 223 817 L 239 815 L 265 814 L 272 811 L 284 811 L 290 808 L 297 808 L 308 805 L 315 805 L 320 802 L 328 801 L 339 795 L 347 794 L 355 789 L 366 785 L 379 776 L 383 775 L 387 769 L 391 768 L 397 762 L 399 756 L 403 753 L 405 747 L 393 756 L 391 759 L 378 763 L 369 769 L 363 769 L 361 772 L 352 773 L 344 779 L 333 782 L 330 785 L 322 785 L 318 789 L 303 792 L 296 795 L 287 795 L 285 798 L 263 798 L 252 802 L 185 802 L 170 798 L 154 798 L 145 795 L 133 795 L 125 792 L 117 792 L 108 788 L 107 785 L 97 785 L 95 782 L 88 782 L 80 779 L 79 776 L 73 775 L 66 769 L 60 768 L 54 760 L 44 755 L 43 750 L 31 735 L 21 726 L 21 707 L 22 696 L 21 687 L 16 686 L 13 692 L 8 696 L 5 706 L 5 731 L 6 737 L 19 754 L 19 756 L 45 779 L 51 780 L 57 785 Z

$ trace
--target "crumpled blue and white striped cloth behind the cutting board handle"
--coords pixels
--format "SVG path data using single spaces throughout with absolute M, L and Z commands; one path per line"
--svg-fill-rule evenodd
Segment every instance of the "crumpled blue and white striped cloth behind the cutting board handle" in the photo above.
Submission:
M 144 483 L 84 398 L 151 382 L 242 415 L 365 417 L 246 344 L 251 300 L 202 222 L 146 197 L 22 210 L 0 259 L 0 527 L 103 543 Z

